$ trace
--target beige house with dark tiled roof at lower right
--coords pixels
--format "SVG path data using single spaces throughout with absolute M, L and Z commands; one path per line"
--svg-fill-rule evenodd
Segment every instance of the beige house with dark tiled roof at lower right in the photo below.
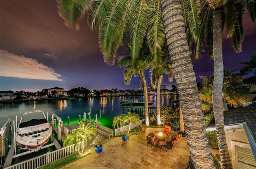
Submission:
M 206 130 L 216 131 L 214 118 Z M 225 111 L 224 130 L 233 168 L 255 168 L 256 105 Z

